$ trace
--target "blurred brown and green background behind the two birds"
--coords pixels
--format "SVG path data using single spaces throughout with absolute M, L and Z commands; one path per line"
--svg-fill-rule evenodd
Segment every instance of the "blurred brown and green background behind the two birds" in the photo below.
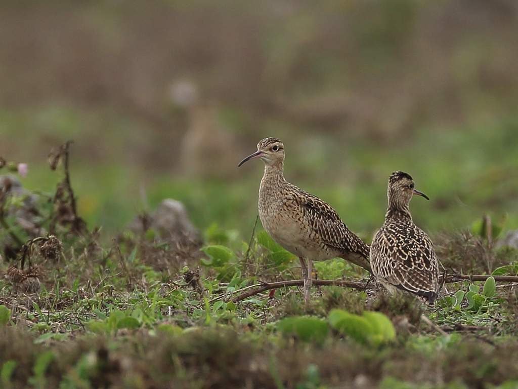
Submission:
M 74 140 L 91 227 L 170 197 L 248 237 L 262 163 L 237 163 L 277 136 L 286 178 L 366 236 L 394 170 L 431 232 L 518 228 L 515 0 L 3 1 L 0 36 L 0 156 L 50 192 Z

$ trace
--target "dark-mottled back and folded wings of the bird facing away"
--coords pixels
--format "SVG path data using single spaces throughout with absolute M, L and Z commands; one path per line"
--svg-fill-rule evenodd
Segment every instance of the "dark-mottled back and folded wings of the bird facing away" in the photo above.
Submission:
M 371 267 L 382 283 L 433 302 L 438 291 L 438 264 L 428 235 L 408 223 L 386 223 L 371 247 Z

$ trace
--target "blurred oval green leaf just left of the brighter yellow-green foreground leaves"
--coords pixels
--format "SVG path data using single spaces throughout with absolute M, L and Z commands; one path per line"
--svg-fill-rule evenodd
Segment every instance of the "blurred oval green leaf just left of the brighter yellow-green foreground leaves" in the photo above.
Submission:
M 329 328 L 327 323 L 318 317 L 293 316 L 282 319 L 277 328 L 284 335 L 293 335 L 304 342 L 322 343 Z

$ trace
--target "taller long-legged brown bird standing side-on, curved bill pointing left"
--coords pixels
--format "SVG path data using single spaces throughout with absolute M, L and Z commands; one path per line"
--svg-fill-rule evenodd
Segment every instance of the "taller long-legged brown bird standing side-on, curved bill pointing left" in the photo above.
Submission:
M 329 204 L 286 181 L 284 145 L 278 138 L 263 139 L 257 151 L 239 166 L 252 158 L 261 158 L 265 164 L 258 203 L 261 223 L 277 243 L 299 257 L 306 301 L 313 260 L 342 257 L 370 271 L 369 246 L 347 228 Z

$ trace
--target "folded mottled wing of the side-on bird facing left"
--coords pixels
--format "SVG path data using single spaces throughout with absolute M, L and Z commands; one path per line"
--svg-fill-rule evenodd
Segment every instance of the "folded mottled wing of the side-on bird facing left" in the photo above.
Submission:
M 316 196 L 297 188 L 296 202 L 303 209 L 304 217 L 321 241 L 344 254 L 357 253 L 369 258 L 369 246 L 351 232 L 332 206 Z

